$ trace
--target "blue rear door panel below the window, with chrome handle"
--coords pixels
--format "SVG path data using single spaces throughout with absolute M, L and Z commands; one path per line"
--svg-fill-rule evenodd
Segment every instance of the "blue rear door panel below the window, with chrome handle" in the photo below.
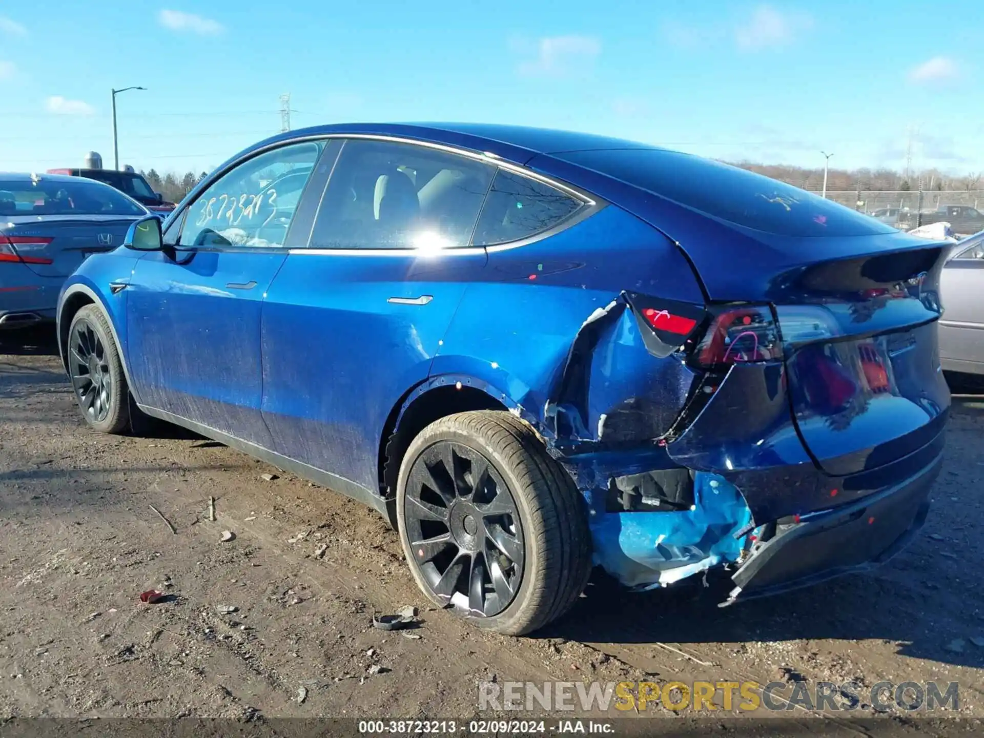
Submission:
M 475 251 L 287 257 L 261 327 L 263 417 L 278 454 L 378 489 L 384 425 L 430 376 L 465 289 L 483 278 L 487 256 Z

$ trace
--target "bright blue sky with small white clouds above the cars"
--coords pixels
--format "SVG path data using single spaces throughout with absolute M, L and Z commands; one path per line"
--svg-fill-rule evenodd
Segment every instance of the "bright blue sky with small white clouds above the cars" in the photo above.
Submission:
M 863 10 L 859 10 L 863 8 Z M 984 170 L 979 0 L 0 0 L 0 169 L 203 170 L 279 130 L 458 120 L 726 159 Z

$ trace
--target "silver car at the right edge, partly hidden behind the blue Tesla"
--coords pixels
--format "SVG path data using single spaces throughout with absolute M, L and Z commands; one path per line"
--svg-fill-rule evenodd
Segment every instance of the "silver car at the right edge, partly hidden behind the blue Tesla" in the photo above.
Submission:
M 984 231 L 957 241 L 940 280 L 940 363 L 984 376 Z

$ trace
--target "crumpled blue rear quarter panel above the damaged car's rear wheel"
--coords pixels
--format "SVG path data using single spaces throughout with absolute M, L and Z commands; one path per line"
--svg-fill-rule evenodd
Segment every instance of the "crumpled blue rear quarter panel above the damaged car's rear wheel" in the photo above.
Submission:
M 571 420 L 565 426 L 569 439 L 596 441 L 599 425 L 602 436 L 606 427 L 621 427 L 622 440 L 651 439 L 653 425 L 641 420 L 642 412 L 658 408 L 657 425 L 668 427 L 692 375 L 677 358 L 646 351 L 621 297 L 626 290 L 704 303 L 677 246 L 616 207 L 524 246 L 491 247 L 482 279 L 468 286 L 431 376 L 465 375 L 499 388 L 506 403 L 522 408 L 547 438 L 554 437 L 550 402 Z M 589 353 L 569 362 L 588 319 L 602 313 L 608 318 L 587 341 Z M 602 422 L 602 415 L 613 420 Z

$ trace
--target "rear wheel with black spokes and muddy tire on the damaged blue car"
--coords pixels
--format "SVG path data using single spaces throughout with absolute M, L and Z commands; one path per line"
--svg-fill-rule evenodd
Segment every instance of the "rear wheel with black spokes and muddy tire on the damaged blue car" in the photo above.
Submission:
M 563 615 L 590 573 L 584 498 L 508 412 L 431 423 L 400 464 L 397 519 L 414 580 L 480 628 L 519 636 Z

